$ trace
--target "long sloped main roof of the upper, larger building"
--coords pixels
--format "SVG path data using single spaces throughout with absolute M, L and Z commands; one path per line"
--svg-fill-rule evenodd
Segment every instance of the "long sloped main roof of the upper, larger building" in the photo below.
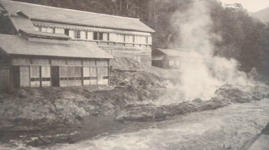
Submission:
M 65 9 L 10 0 L 0 0 L 0 3 L 9 14 L 20 10 L 27 16 L 29 16 L 31 19 L 50 20 L 55 22 L 65 22 L 79 25 L 118 28 L 144 32 L 154 32 L 153 29 L 151 29 L 136 18 Z

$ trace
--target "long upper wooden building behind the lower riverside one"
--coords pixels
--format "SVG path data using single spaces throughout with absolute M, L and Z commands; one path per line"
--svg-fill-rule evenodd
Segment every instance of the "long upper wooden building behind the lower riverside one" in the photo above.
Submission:
M 18 30 L 65 34 L 110 53 L 151 65 L 153 29 L 139 19 L 0 0 L 0 33 Z

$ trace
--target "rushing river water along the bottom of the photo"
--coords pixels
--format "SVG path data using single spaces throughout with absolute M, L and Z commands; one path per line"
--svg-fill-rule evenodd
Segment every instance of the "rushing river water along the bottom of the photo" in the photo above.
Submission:
M 74 144 L 53 144 L 42 149 L 239 149 L 269 121 L 269 99 L 169 117 L 160 122 L 127 122 L 114 133 Z M 4 144 L 0 149 L 37 149 Z

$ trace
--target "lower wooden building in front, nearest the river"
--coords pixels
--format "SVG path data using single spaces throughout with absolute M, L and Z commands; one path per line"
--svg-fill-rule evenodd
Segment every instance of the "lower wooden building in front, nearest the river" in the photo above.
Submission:
M 0 34 L 0 90 L 109 84 L 109 53 L 64 34 Z

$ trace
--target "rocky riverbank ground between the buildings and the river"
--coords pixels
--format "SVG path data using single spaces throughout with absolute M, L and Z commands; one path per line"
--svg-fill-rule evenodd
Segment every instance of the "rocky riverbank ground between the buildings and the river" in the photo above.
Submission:
M 0 94 L 0 132 L 45 131 L 80 127 L 84 118 L 106 116 L 118 122 L 163 120 L 167 116 L 204 111 L 231 103 L 269 97 L 266 87 L 223 85 L 211 99 L 193 99 L 155 105 L 159 97 L 172 98 L 167 86 L 179 84 L 178 73 L 148 67 L 125 58 L 114 60 L 111 86 L 17 89 Z M 124 65 L 123 65 L 124 64 Z M 123 67 L 122 67 L 123 66 Z M 36 92 L 36 99 L 34 94 Z M 171 96 L 172 95 L 172 96 Z M 2 137 L 5 138 L 2 134 Z M 29 144 L 72 143 L 69 136 L 39 136 Z

